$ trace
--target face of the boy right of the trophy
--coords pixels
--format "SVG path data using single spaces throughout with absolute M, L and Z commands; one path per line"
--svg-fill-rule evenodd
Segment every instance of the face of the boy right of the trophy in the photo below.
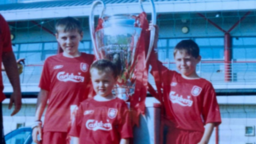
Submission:
M 196 65 L 201 60 L 201 56 L 194 58 L 186 51 L 177 51 L 174 60 L 181 75 L 190 76 L 196 74 Z

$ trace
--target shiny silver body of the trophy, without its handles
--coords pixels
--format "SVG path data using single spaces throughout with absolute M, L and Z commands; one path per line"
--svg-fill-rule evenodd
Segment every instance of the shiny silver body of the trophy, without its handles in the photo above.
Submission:
M 142 29 L 133 15 L 107 15 L 103 20 L 103 28 L 95 32 L 98 54 L 100 59 L 117 65 L 119 76 L 114 92 L 127 101 L 134 92 L 135 52 Z

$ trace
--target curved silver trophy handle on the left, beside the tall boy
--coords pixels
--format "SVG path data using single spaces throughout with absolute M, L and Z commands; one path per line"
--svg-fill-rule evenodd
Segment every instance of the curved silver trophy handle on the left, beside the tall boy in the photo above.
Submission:
M 96 45 L 95 29 L 94 29 L 94 13 L 93 13 L 93 11 L 94 11 L 95 7 L 98 4 L 102 4 L 102 6 L 103 6 L 99 19 L 102 18 L 103 14 L 105 13 L 105 10 L 106 10 L 106 5 L 102 1 L 94 1 L 92 3 L 91 12 L 90 12 L 90 15 L 89 15 L 90 34 L 91 34 L 91 39 L 92 39 L 93 51 L 94 51 L 94 54 L 95 54 L 97 60 L 100 59 L 100 57 L 99 57 L 99 53 L 98 53 L 97 45 Z

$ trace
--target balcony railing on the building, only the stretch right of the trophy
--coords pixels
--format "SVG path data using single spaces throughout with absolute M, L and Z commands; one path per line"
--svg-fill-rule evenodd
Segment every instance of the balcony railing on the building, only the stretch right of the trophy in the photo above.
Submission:
M 166 60 L 163 64 L 178 71 L 174 61 Z M 256 83 L 256 61 L 203 60 L 198 63 L 196 72 L 212 83 Z M 153 81 L 153 77 L 150 77 L 149 81 Z

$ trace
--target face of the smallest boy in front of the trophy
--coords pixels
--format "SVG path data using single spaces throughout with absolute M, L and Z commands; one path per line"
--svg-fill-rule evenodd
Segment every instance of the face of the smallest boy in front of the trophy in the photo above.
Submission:
M 113 72 L 103 72 L 93 68 L 91 70 L 91 79 L 94 91 L 101 97 L 107 97 L 112 94 L 112 89 L 116 84 Z

